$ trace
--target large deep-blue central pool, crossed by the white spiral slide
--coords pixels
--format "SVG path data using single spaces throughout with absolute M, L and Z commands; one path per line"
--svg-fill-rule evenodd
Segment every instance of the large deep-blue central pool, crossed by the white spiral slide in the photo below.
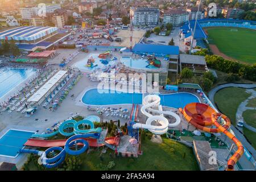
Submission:
M 142 104 L 142 93 L 99 93 L 97 89 L 85 92 L 82 102 L 86 105 Z M 180 108 L 191 102 L 200 102 L 194 94 L 181 92 L 159 94 L 161 105 Z

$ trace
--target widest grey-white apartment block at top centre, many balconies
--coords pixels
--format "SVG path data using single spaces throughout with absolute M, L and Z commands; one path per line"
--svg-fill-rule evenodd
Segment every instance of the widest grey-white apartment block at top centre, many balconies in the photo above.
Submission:
M 160 10 L 151 7 L 131 7 L 130 15 L 133 17 L 134 26 L 157 25 L 159 23 Z

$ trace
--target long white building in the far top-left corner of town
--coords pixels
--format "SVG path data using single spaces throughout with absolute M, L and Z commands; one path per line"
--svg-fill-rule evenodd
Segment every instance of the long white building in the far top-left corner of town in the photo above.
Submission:
M 42 7 L 21 7 L 20 14 L 22 15 L 22 19 L 31 19 L 32 16 L 38 15 L 39 10 Z M 53 13 L 55 10 L 61 9 L 59 4 L 56 5 L 47 5 L 45 9 L 45 13 Z

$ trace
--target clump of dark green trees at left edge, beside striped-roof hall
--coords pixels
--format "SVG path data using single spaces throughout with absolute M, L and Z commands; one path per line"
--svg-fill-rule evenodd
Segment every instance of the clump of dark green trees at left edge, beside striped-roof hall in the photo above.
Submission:
M 1 49 L 0 49 L 0 54 L 5 55 L 13 55 L 13 56 L 18 56 L 20 55 L 19 48 L 16 46 L 15 41 L 12 39 L 10 42 L 8 40 L 2 40 L 1 42 Z

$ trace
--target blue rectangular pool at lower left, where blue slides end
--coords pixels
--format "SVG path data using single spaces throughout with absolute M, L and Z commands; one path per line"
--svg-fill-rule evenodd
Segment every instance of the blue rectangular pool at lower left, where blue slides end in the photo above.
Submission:
M 16 157 L 20 148 L 27 142 L 27 139 L 35 134 L 32 131 L 8 130 L 0 138 L 0 155 Z

